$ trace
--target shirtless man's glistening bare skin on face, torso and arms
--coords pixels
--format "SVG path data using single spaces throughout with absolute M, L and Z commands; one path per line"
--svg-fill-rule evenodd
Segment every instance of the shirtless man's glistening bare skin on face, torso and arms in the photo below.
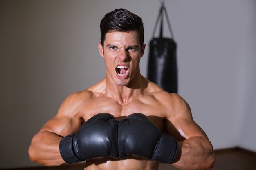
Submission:
M 104 46 L 99 43 L 98 47 L 106 77 L 64 100 L 56 116 L 33 137 L 29 147 L 31 161 L 45 166 L 64 164 L 60 140 L 76 133 L 84 121 L 98 113 L 110 113 L 116 119 L 143 113 L 178 141 L 179 152 L 173 166 L 181 170 L 211 169 L 215 160 L 211 142 L 193 121 L 189 105 L 140 74 L 145 45 L 141 47 L 137 31 L 108 32 Z M 87 160 L 84 170 L 157 170 L 158 166 L 157 161 L 139 157 L 103 157 Z

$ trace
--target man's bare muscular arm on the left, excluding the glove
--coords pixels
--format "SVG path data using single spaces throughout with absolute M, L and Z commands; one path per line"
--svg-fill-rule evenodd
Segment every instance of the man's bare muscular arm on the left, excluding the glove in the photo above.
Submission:
M 65 161 L 61 158 L 59 143 L 63 137 L 75 133 L 83 119 L 78 113 L 80 102 L 73 93 L 61 104 L 55 117 L 47 121 L 32 138 L 29 147 L 29 158 L 44 166 L 59 166 Z

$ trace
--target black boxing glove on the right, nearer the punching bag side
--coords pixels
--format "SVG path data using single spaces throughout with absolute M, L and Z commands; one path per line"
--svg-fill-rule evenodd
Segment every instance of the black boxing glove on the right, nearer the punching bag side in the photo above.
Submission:
M 161 163 L 172 163 L 178 152 L 173 137 L 161 134 L 159 128 L 141 113 L 133 113 L 119 120 L 119 158 L 132 155 Z

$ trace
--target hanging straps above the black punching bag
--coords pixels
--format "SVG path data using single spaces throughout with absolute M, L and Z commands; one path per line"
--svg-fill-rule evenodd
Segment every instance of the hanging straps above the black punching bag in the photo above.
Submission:
M 163 11 L 164 11 L 164 13 L 163 13 Z M 164 6 L 164 2 L 162 2 L 162 6 L 161 6 L 161 8 L 160 8 L 160 10 L 159 10 L 159 13 L 158 13 L 158 16 L 157 16 L 157 20 L 156 20 L 156 22 L 155 22 L 155 27 L 154 27 L 154 30 L 153 30 L 153 35 L 152 35 L 152 37 L 155 36 L 155 30 L 156 30 L 156 28 L 157 28 L 157 24 L 158 24 L 158 22 L 159 22 L 159 19 L 161 19 L 161 24 L 160 24 L 161 27 L 160 27 L 160 31 L 159 31 L 159 37 L 162 38 L 162 35 L 163 35 L 163 18 L 164 18 L 164 14 L 165 14 L 165 16 L 166 16 L 167 24 L 168 24 L 168 27 L 169 27 L 169 30 L 170 30 L 170 33 L 171 33 L 171 38 L 174 40 L 173 31 L 172 31 L 172 29 L 171 29 L 171 23 L 170 23 L 170 21 L 169 21 L 166 8 L 165 8 L 165 6 Z

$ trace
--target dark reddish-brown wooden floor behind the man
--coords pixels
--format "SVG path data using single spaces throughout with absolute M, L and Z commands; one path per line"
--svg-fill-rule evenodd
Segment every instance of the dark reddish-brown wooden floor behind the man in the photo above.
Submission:
M 256 170 L 256 153 L 242 148 L 215 151 L 216 161 L 212 170 Z M 15 168 L 8 170 L 83 170 L 84 164 L 59 167 Z M 7 170 L 7 169 L 1 169 Z M 178 170 L 171 165 L 160 164 L 159 170 Z

